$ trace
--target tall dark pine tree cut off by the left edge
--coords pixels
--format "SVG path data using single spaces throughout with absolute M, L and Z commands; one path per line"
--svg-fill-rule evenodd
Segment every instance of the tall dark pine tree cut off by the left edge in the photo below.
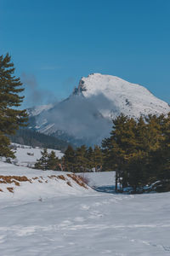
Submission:
M 7 135 L 12 135 L 20 126 L 25 126 L 26 110 L 18 110 L 24 96 L 20 92 L 20 78 L 14 76 L 14 63 L 7 54 L 0 55 L 0 156 L 14 157 L 9 148 L 10 141 Z

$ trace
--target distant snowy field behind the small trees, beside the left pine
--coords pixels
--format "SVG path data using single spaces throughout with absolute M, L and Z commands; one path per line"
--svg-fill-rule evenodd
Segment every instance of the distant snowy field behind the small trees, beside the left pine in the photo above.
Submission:
M 30 146 L 20 145 L 17 143 L 12 143 L 12 145 L 16 147 L 14 150 L 16 157 L 14 162 L 19 166 L 34 166 L 37 160 L 42 156 L 41 151 L 43 151 L 43 148 L 32 148 Z M 51 153 L 52 150 L 59 159 L 64 155 L 60 150 L 50 148 L 48 148 L 48 154 Z

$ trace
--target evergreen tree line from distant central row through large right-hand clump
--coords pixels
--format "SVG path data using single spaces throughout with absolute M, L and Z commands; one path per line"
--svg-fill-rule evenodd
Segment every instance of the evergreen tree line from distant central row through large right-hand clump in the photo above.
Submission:
M 111 136 L 101 147 L 69 145 L 56 170 L 116 171 L 117 191 L 131 187 L 138 192 L 153 183 L 157 191 L 170 190 L 170 113 L 139 119 L 121 114 L 112 122 Z

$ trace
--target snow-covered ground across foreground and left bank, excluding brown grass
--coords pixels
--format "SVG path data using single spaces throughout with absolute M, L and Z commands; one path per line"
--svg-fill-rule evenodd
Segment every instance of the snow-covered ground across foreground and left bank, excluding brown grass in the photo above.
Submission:
M 45 179 L 62 173 L 2 162 L 0 166 L 0 175 L 42 176 Z M 94 182 L 96 177 L 97 185 L 105 185 L 113 173 L 91 175 Z M 49 183 L 30 183 L 30 190 L 27 188 L 22 200 L 20 193 L 24 193 L 25 184 L 18 188 L 20 193 L 17 188 L 14 194 L 8 192 L 10 200 L 0 192 L 2 256 L 170 254 L 170 193 L 104 194 L 78 188 L 73 181 L 71 187 L 63 180 L 49 180 Z

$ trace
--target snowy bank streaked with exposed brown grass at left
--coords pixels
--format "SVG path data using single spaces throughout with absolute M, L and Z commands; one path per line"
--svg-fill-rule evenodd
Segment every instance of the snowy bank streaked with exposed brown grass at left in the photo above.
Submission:
M 91 190 L 69 172 L 41 171 L 0 161 L 0 201 L 41 200 L 59 195 L 81 195 Z

